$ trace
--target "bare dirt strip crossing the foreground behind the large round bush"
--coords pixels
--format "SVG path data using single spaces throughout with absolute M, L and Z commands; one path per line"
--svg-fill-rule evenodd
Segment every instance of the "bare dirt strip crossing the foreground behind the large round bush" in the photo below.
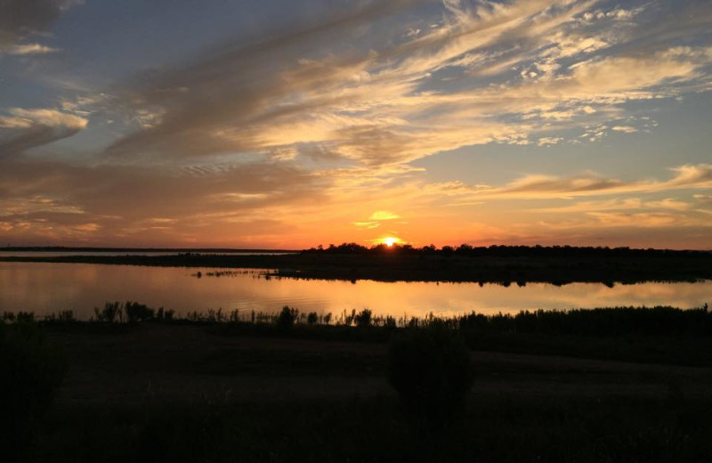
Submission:
M 126 332 L 52 331 L 69 370 L 59 402 L 296 401 L 392 394 L 383 344 L 218 336 L 145 324 Z M 473 394 L 712 396 L 712 369 L 473 352 Z

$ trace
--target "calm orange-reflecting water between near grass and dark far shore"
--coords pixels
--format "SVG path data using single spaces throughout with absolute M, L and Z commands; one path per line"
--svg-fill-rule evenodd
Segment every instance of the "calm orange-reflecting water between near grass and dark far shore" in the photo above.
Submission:
M 342 313 L 369 308 L 377 314 L 402 316 L 518 312 L 522 309 L 570 309 L 613 305 L 674 305 L 688 308 L 712 303 L 712 281 L 616 285 L 576 283 L 525 287 L 477 283 L 430 283 L 331 280 L 265 280 L 259 272 L 196 278 L 200 271 L 98 264 L 0 262 L 0 311 L 34 311 L 38 315 L 71 309 L 79 318 L 93 315 L 106 301 L 133 300 L 179 313 L 223 308 L 225 311 L 278 311 L 291 305 L 301 311 Z M 235 269 L 231 269 L 235 270 Z

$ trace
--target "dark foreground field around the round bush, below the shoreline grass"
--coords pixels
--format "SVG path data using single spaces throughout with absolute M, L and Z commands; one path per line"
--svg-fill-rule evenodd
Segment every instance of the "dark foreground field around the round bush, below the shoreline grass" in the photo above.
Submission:
M 412 419 L 392 392 L 387 344 L 377 336 L 329 340 L 201 323 L 42 331 L 67 372 L 23 461 L 712 459 L 707 356 L 691 367 L 674 364 L 679 357 L 530 355 L 511 352 L 522 343 L 500 343 L 510 353 L 472 352 L 465 407 L 432 426 Z

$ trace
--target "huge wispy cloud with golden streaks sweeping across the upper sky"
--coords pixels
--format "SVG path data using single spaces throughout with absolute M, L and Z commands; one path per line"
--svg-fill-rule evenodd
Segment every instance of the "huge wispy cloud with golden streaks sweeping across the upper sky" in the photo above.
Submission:
M 625 50 L 647 27 L 635 22 L 644 9 L 596 10 L 597 1 L 447 1 L 435 28 L 409 34 L 408 24 L 402 31 L 392 23 L 378 27 L 386 17 L 432 14 L 423 3 L 332 12 L 137 76 L 118 86 L 114 100 L 114 110 L 137 129 L 107 152 L 115 158 L 261 152 L 285 160 L 328 152 L 370 167 L 395 165 L 474 144 L 531 143 L 555 128 L 552 121 L 561 128 L 603 126 L 604 118 L 620 118 L 624 102 L 684 92 L 712 62 L 700 46 L 620 53 L 615 47 Z M 381 49 L 359 51 L 356 30 L 365 25 L 382 37 Z M 354 46 L 337 45 L 344 41 Z M 463 85 L 445 85 L 445 71 Z M 598 140 L 605 130 L 584 138 Z M 561 138 L 547 134 L 538 143 Z

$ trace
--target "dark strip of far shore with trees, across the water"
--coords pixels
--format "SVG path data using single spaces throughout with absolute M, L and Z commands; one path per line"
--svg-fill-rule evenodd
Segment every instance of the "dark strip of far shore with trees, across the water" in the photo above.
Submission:
M 698 281 L 712 279 L 712 253 L 667 249 L 490 246 L 435 248 L 344 243 L 283 255 L 0 256 L 0 261 L 270 269 L 265 277 L 326 280 L 494 282 Z M 200 272 L 228 276 L 230 272 Z M 196 273 L 198 276 L 198 273 Z

